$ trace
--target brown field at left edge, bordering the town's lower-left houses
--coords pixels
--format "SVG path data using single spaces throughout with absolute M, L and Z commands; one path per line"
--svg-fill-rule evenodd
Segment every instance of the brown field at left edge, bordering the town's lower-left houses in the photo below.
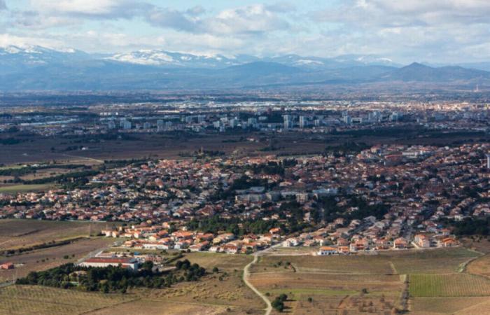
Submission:
M 49 241 L 87 237 L 89 230 L 94 235 L 106 225 L 111 226 L 112 223 L 0 220 L 0 251 Z

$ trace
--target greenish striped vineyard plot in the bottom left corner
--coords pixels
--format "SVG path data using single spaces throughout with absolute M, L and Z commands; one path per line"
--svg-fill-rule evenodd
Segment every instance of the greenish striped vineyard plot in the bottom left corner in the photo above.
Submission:
M 0 314 L 82 314 L 134 300 L 134 295 L 103 295 L 41 286 L 0 288 Z

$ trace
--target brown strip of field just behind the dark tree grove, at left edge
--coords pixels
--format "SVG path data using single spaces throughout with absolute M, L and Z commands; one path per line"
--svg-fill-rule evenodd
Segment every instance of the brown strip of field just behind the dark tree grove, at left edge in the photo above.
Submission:
M 97 237 L 91 239 L 80 239 L 71 244 L 43 248 L 36 251 L 28 251 L 25 253 L 11 255 L 9 257 L 0 255 L 0 263 L 13 262 L 14 264 L 24 264 L 15 269 L 0 270 L 0 282 L 16 277 L 27 276 L 27 274 L 31 271 L 57 267 L 66 262 L 75 262 L 76 260 L 83 258 L 88 253 L 104 248 L 112 242 L 113 239 Z M 65 255 L 68 255 L 69 259 L 65 259 Z

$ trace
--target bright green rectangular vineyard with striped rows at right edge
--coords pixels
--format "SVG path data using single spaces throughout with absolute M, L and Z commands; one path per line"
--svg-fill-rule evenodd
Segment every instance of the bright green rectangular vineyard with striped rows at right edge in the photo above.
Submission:
M 490 280 L 474 274 L 411 274 L 412 297 L 463 297 L 490 295 Z

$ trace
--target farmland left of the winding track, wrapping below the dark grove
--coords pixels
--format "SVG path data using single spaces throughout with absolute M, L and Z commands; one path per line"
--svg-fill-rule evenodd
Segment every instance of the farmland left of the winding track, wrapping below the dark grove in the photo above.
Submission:
M 214 253 L 185 253 L 184 255 L 182 259 L 199 263 L 207 268 L 209 274 L 201 281 L 181 282 L 165 289 L 133 289 L 126 295 L 103 295 L 34 286 L 8 286 L 0 289 L 0 314 L 263 313 L 262 309 L 265 307 L 263 302 L 241 281 L 241 272 L 244 265 L 250 262 L 251 256 Z M 218 267 L 219 272 L 212 272 L 213 267 Z M 73 301 L 73 303 L 64 301 Z M 81 304 L 83 307 L 78 307 Z

